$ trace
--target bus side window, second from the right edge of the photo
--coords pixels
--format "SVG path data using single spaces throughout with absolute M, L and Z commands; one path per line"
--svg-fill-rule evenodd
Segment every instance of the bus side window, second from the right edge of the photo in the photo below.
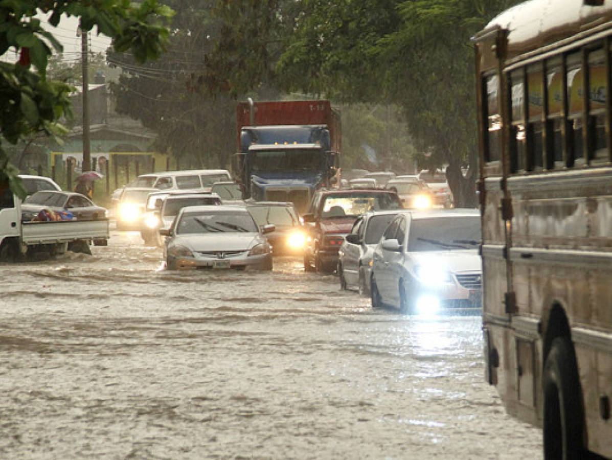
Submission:
M 584 112 L 583 78 L 580 53 L 567 56 L 567 166 L 583 166 L 582 117 Z

